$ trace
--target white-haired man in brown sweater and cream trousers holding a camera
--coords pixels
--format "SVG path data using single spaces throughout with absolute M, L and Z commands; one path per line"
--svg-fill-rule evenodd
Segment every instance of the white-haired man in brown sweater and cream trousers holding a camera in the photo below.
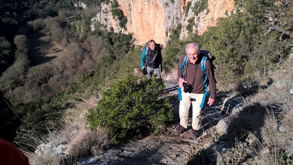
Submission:
M 181 98 L 179 104 L 179 116 L 180 116 L 180 125 L 177 128 L 175 135 L 179 136 L 184 130 L 188 127 L 188 112 L 190 105 L 192 104 L 192 130 L 191 134 L 193 138 L 198 137 L 198 130 L 200 129 L 200 120 L 202 114 L 202 108 L 200 105 L 203 100 L 204 93 L 206 91 L 203 82 L 205 81 L 205 73 L 201 69 L 202 55 L 200 55 L 200 48 L 197 43 L 190 43 L 186 45 L 186 54 L 188 56 L 187 63 L 184 68 L 184 79 L 182 76 L 182 68 L 180 65 L 183 64 L 185 56 L 180 58 L 180 61 L 177 66 L 178 74 L 178 84 L 181 89 L 186 87 L 183 86 L 183 83 L 190 84 L 190 91 L 184 92 L 181 90 Z M 216 95 L 216 80 L 214 77 L 214 67 L 212 62 L 209 60 L 206 61 L 206 74 L 209 79 L 209 89 L 210 96 L 208 104 L 211 106 L 215 101 Z

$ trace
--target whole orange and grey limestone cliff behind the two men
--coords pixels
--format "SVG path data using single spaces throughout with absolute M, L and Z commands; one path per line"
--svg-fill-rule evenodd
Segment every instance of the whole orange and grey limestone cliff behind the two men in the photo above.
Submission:
M 132 33 L 137 44 L 143 44 L 150 39 L 166 45 L 171 29 L 181 24 L 180 38 L 188 35 L 185 26 L 190 18 L 195 19 L 193 33 L 202 34 L 208 26 L 214 26 L 219 17 L 230 14 L 234 9 L 234 0 L 208 0 L 207 9 L 195 15 L 193 6 L 200 0 L 191 0 L 188 11 L 184 11 L 190 0 L 117 0 L 119 8 L 127 16 L 126 28 L 119 26 L 119 20 L 113 19 L 111 3 L 102 4 L 102 10 L 92 19 L 92 30 L 95 23 L 100 22 L 109 31 Z M 202 0 L 204 1 L 204 0 Z M 207 0 L 205 0 L 207 1 Z M 185 9 L 186 10 L 186 9 Z M 187 12 L 187 14 L 185 14 Z

